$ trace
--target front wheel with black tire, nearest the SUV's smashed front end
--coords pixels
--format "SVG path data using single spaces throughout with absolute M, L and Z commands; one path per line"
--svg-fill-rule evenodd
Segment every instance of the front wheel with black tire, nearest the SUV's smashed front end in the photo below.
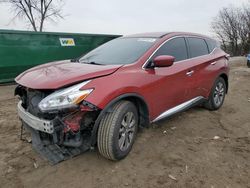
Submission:
M 100 122 L 97 136 L 100 154 L 110 160 L 123 159 L 132 149 L 137 130 L 137 108 L 130 101 L 119 101 Z

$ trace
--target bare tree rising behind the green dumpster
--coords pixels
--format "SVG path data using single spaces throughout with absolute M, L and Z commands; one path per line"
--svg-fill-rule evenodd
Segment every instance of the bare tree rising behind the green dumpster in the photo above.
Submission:
M 10 4 L 16 18 L 27 21 L 34 31 L 43 31 L 46 21 L 56 22 L 62 19 L 63 0 L 0 0 Z

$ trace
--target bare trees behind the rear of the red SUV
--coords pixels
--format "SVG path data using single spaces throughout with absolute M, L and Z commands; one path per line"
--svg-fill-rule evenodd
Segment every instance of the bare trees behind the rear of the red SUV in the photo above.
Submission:
M 250 6 L 230 6 L 219 11 L 211 24 L 223 48 L 232 55 L 243 55 L 249 50 Z

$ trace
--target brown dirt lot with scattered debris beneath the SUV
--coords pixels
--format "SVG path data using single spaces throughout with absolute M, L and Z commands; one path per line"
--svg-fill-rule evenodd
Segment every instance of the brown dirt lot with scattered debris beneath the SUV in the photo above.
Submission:
M 230 65 L 219 111 L 197 107 L 144 129 L 120 162 L 92 151 L 50 166 L 19 140 L 14 86 L 1 86 L 0 187 L 250 187 L 250 69 L 242 58 Z

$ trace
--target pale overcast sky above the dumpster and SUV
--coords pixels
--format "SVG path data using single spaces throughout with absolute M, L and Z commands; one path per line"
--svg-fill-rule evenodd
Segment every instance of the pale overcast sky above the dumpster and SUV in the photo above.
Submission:
M 240 6 L 247 0 L 66 0 L 59 23 L 46 31 L 132 34 L 151 31 L 190 31 L 211 35 L 210 23 L 222 7 Z M 0 29 L 27 30 L 0 5 Z

